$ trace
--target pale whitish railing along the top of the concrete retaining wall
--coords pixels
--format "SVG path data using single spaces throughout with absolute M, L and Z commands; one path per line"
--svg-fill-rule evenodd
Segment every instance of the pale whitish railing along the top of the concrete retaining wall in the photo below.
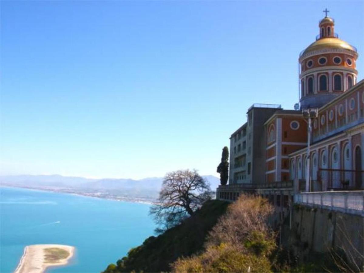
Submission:
M 294 202 L 364 216 L 364 191 L 318 191 L 297 193 Z

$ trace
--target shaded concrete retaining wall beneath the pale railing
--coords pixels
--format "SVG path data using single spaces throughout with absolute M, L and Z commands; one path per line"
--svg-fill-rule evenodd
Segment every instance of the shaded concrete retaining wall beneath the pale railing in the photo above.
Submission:
M 357 265 L 364 266 L 364 218 L 327 209 L 294 206 L 291 228 L 282 232 L 283 243 L 300 257 L 342 248 Z

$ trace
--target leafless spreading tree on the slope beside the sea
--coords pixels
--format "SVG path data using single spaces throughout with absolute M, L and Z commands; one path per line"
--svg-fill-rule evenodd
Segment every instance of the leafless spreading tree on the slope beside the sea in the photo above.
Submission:
M 207 200 L 211 199 L 210 185 L 196 170 L 178 170 L 167 173 L 157 203 L 150 208 L 159 225 L 156 232 L 179 224 Z

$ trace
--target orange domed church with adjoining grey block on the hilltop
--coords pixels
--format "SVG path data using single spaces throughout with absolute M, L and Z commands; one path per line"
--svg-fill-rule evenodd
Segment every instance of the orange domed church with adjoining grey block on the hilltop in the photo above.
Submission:
M 364 80 L 357 83 L 358 53 L 339 39 L 332 18 L 324 17 L 318 27 L 316 41 L 298 58 L 300 110 L 249 108 L 248 122 L 230 137 L 229 185 L 219 186 L 217 198 L 235 200 L 242 191 L 254 191 L 286 207 L 294 191 L 307 189 L 308 163 L 310 191 L 364 189 Z M 312 108 L 318 115 L 308 133 L 302 111 Z

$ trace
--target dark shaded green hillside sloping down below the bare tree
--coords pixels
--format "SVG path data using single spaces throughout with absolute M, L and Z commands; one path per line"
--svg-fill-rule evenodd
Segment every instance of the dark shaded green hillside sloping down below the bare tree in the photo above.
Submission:
M 169 264 L 178 257 L 186 257 L 203 249 L 207 233 L 226 211 L 229 203 L 207 201 L 193 217 L 186 219 L 158 237 L 147 238 L 142 245 L 131 249 L 128 256 L 111 264 L 104 271 L 110 272 L 161 272 L 170 271 Z

